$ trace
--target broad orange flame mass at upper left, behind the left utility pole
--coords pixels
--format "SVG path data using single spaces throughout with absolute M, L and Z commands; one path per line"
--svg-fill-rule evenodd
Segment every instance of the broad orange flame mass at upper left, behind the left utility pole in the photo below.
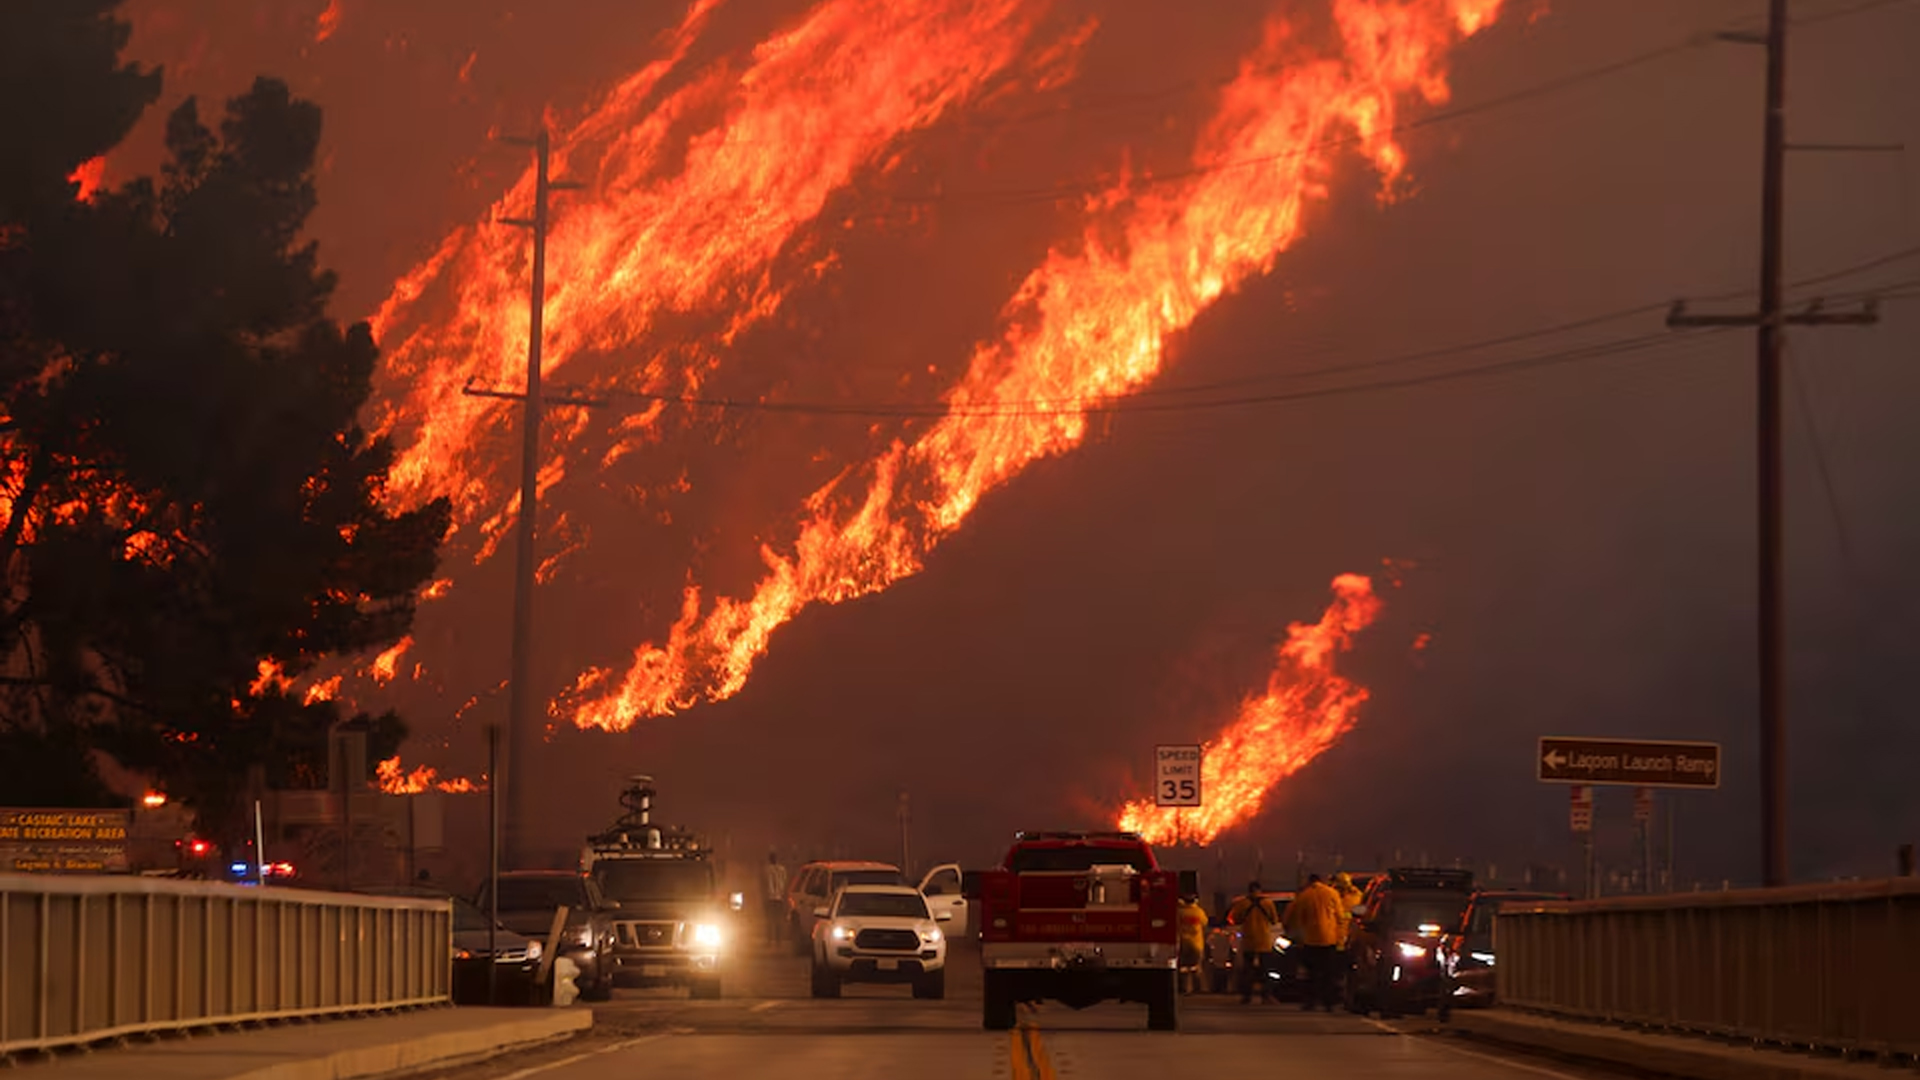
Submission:
M 824 0 L 762 42 L 745 69 L 718 63 L 655 100 L 716 4 L 693 4 L 662 60 L 553 140 L 553 173 L 588 188 L 557 202 L 547 240 L 549 375 L 582 354 L 645 340 L 666 313 L 732 311 L 720 332 L 730 340 L 778 311 L 787 286 L 766 273 L 774 258 L 899 136 L 977 96 L 1020 56 L 1044 10 L 1025 0 Z M 524 215 L 532 192 L 528 171 L 490 217 Z M 436 282 L 453 290 L 455 313 L 394 334 Z M 394 494 L 447 494 L 459 521 L 490 519 L 493 536 L 518 507 L 501 461 L 476 444 L 515 405 L 461 390 L 470 379 L 524 379 L 526 290 L 520 231 L 461 229 L 372 317 L 374 332 L 394 338 L 386 384 L 405 388 L 378 421 L 401 442 Z M 622 384 L 693 390 L 708 363 L 689 357 L 674 371 L 655 356 Z

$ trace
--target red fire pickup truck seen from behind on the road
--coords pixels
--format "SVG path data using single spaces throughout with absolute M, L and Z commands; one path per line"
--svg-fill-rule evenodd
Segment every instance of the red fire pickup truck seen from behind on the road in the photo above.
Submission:
M 998 869 L 968 876 L 989 1030 L 1012 1028 L 1021 1001 L 1140 1001 L 1148 1028 L 1177 1026 L 1183 874 L 1137 834 L 1021 832 Z

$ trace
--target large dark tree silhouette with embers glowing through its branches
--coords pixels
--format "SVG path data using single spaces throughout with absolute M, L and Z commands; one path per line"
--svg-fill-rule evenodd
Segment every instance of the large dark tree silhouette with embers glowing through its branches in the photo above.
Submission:
M 77 200 L 159 92 L 115 8 L 0 8 L 0 788 L 15 746 L 38 790 L 100 798 L 106 749 L 225 830 L 250 765 L 324 761 L 340 719 L 263 671 L 403 636 L 449 509 L 384 505 L 376 348 L 301 238 L 317 106 L 259 79 L 215 131 L 188 100 L 157 179 Z

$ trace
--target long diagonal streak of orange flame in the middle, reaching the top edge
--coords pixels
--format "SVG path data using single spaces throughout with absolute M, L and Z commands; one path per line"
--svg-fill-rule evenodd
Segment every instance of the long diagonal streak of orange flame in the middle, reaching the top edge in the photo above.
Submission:
M 1079 446 L 1087 407 L 1152 380 L 1173 334 L 1300 236 L 1308 204 L 1327 198 L 1334 140 L 1352 133 L 1392 184 L 1405 169 L 1394 142 L 1402 98 L 1444 102 L 1448 48 L 1486 27 L 1500 0 L 1334 0 L 1332 12 L 1338 56 L 1306 54 L 1271 21 L 1223 90 L 1190 173 L 1139 194 L 1119 183 L 1089 202 L 1081 250 L 1056 250 L 1027 277 L 1002 313 L 1004 336 L 975 348 L 947 396 L 948 415 L 868 463 L 864 492 L 841 494 L 851 473 L 814 492 L 793 546 L 762 546 L 768 571 L 753 596 L 708 607 L 689 586 L 664 646 L 636 650 L 624 675 L 584 673 L 553 709 L 624 730 L 737 694 L 778 626 L 918 573 L 989 490 Z

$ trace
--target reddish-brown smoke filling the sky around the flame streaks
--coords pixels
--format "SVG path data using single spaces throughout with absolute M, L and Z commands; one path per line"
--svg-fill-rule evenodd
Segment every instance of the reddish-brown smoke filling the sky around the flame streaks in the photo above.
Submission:
M 1920 71 L 1903 56 L 1920 4 L 1822 17 L 1860 6 L 1795 6 L 1809 21 L 1789 56 L 1789 133 L 1908 150 L 1793 156 L 1793 281 L 1920 246 Z M 1309 42 L 1331 4 L 1192 8 L 1054 4 L 1021 63 L 858 169 L 780 250 L 770 273 L 791 284 L 718 350 L 712 392 L 939 398 L 1002 332 L 1002 307 L 1048 248 L 1085 229 L 1079 196 L 993 192 L 1092 194 L 1123 167 L 1179 169 L 1267 17 L 1288 12 Z M 737 73 L 753 42 L 806 10 L 718 6 L 662 94 Z M 1380 367 L 1751 288 L 1761 54 L 1707 38 L 1755 27 L 1763 10 L 1509 2 L 1448 58 L 1452 104 L 1402 102 L 1413 127 L 1392 198 L 1356 152 L 1331 154 L 1329 198 L 1308 204 L 1300 240 L 1171 342 L 1154 392 L 1246 380 L 1246 396 L 1286 398 L 1555 357 L 1661 334 L 1663 311 Z M 490 131 L 526 131 L 543 110 L 561 125 L 584 115 L 660 60 L 685 6 L 131 0 L 127 13 L 132 52 L 167 63 L 167 106 L 271 73 L 326 110 L 313 234 L 342 275 L 336 313 L 365 317 L 518 181 L 524 152 Z M 1033 61 L 1081 38 L 1073 60 Z M 159 115 L 109 179 L 152 167 Z M 1920 258 L 1907 258 L 1795 296 L 1916 277 Z M 1876 329 L 1791 334 L 1789 815 L 1809 876 L 1878 872 L 1920 834 L 1907 776 L 1920 734 L 1903 694 L 1920 575 L 1901 557 L 1920 540 L 1901 498 L 1920 461 L 1907 419 L 1914 317 L 1903 300 Z M 712 334 L 714 319 L 726 315 L 676 315 L 609 363 Z M 1722 790 L 1667 799 L 1680 876 L 1753 878 L 1751 357 L 1751 334 L 1734 332 L 1094 417 L 1085 446 L 991 492 L 920 575 L 778 630 L 737 696 L 622 734 L 561 723 L 532 765 L 541 834 L 559 847 L 601 824 L 636 771 L 659 776 L 670 817 L 751 849 L 891 855 L 902 788 L 918 861 L 987 857 L 1018 826 L 1091 824 L 1139 794 L 1152 744 L 1212 736 L 1265 686 L 1273 646 L 1319 617 L 1334 575 L 1392 557 L 1415 569 L 1400 588 L 1382 577 L 1384 613 L 1342 659 L 1373 700 L 1223 838 L 1229 865 L 1292 863 L 1298 849 L 1350 865 L 1394 851 L 1565 863 L 1565 792 L 1532 780 L 1534 738 L 1622 734 L 1726 744 Z M 1344 375 L 1296 379 L 1321 369 Z M 557 419 L 605 442 L 637 407 Z M 541 517 L 549 552 L 580 548 L 540 594 L 541 700 L 662 640 L 689 580 L 749 592 L 758 544 L 791 544 L 801 500 L 906 429 L 676 413 L 618 465 L 568 469 Z M 511 454 L 509 436 L 490 448 Z M 403 657 L 420 678 L 353 690 L 403 707 L 407 761 L 447 773 L 480 771 L 480 724 L 505 713 L 493 688 L 509 559 L 476 569 L 476 527 L 449 546 L 453 594 L 422 607 Z M 1415 651 L 1421 634 L 1432 640 Z M 1626 794 L 1603 794 L 1599 817 L 1603 855 L 1626 861 Z

